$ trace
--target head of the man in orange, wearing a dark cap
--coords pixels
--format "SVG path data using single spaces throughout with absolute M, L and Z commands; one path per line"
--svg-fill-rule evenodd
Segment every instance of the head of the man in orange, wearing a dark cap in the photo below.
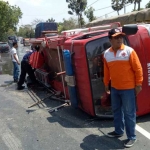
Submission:
M 120 48 L 123 43 L 123 36 L 125 36 L 125 33 L 121 32 L 119 29 L 116 28 L 111 29 L 108 32 L 110 43 L 114 49 Z

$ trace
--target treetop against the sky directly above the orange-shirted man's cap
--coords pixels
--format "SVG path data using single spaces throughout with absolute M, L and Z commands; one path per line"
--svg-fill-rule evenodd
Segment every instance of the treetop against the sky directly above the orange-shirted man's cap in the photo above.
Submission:
M 124 0 L 112 0 L 111 1 L 112 9 L 117 11 L 118 15 L 119 15 L 119 11 L 123 8 L 124 4 L 125 4 Z

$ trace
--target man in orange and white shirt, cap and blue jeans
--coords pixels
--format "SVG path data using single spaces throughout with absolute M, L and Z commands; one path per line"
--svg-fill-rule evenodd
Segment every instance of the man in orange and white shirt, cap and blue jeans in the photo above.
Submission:
M 136 52 L 123 44 L 124 33 L 119 29 L 108 32 L 111 47 L 104 53 L 104 84 L 111 91 L 115 131 L 108 137 L 121 137 L 126 129 L 125 147 L 136 142 L 136 96 L 142 90 L 143 72 Z M 111 80 L 111 90 L 109 82 Z

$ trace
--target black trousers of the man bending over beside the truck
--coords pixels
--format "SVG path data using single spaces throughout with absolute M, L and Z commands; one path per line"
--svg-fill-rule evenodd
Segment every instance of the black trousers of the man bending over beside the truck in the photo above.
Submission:
M 31 81 L 33 83 L 36 83 L 36 77 L 34 75 L 34 70 L 31 68 L 31 65 L 28 63 L 28 61 L 21 61 L 21 74 L 18 82 L 18 86 L 22 86 L 24 84 L 26 74 L 29 75 Z

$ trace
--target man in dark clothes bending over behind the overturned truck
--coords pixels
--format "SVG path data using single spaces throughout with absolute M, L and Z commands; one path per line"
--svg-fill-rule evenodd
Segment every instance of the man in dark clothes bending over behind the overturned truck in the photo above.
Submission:
M 33 84 L 37 83 L 36 77 L 34 75 L 34 70 L 32 69 L 31 65 L 29 64 L 29 58 L 32 53 L 39 51 L 40 46 L 36 45 L 33 49 L 33 51 L 28 52 L 23 56 L 23 59 L 21 61 L 21 74 L 18 81 L 18 87 L 17 90 L 23 90 L 25 86 L 22 86 L 25 82 L 26 74 L 29 75 L 30 79 L 32 80 Z

